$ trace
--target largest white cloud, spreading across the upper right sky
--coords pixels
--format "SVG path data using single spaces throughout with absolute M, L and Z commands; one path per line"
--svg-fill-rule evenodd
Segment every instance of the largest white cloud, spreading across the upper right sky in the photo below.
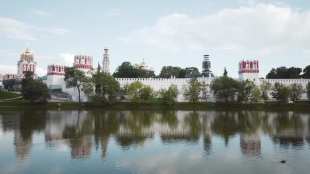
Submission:
M 276 5 L 223 9 L 192 18 L 174 13 L 152 26 L 133 31 L 119 40 L 180 50 L 217 47 L 230 51 L 270 52 L 310 45 L 310 11 L 299 13 Z

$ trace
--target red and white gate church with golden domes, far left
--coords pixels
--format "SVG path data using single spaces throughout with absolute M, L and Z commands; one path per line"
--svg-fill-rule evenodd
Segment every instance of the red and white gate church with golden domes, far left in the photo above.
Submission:
M 26 49 L 24 53 L 20 55 L 20 60 L 17 62 L 17 78 L 24 78 L 24 73 L 31 71 L 34 73 L 33 78 L 38 78 L 36 75 L 37 63 L 34 62 L 34 55 L 30 53 L 29 49 Z

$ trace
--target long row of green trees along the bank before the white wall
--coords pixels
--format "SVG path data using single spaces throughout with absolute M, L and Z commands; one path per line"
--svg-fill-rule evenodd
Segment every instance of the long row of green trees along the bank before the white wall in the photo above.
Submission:
M 210 94 L 213 94 L 217 102 L 223 103 L 260 103 L 268 104 L 270 98 L 278 103 L 293 103 L 300 100 L 306 93 L 310 100 L 310 82 L 303 89 L 299 83 L 285 85 L 263 81 L 259 86 L 253 81 L 238 81 L 227 76 L 226 69 L 223 76 L 214 79 L 211 84 L 199 81 L 197 77 L 191 77 L 179 90 L 178 86 L 171 84 L 168 89 L 155 91 L 151 86 L 140 81 L 120 86 L 119 82 L 110 74 L 101 71 L 100 66 L 92 72 L 91 77 L 86 77 L 83 71 L 73 67 L 66 68 L 65 82 L 67 88 L 75 87 L 89 96 L 98 105 L 111 104 L 119 100 L 125 100 L 138 105 L 141 102 L 154 103 L 160 99 L 165 105 L 173 105 L 177 97 L 182 94 L 187 102 L 197 103 L 208 101 Z

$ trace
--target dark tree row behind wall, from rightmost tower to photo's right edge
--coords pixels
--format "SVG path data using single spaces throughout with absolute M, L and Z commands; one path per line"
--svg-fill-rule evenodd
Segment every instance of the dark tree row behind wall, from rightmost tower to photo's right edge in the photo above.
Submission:
M 303 73 L 303 74 L 301 74 Z M 266 75 L 266 78 L 310 78 L 310 65 L 306 66 L 304 69 L 296 67 L 279 67 L 272 68 L 270 72 Z

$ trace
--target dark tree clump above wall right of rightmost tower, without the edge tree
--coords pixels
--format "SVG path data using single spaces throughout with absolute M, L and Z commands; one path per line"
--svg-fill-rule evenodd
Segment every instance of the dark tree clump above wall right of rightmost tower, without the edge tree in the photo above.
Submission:
M 271 71 L 267 74 L 266 78 L 301 78 L 301 68 L 286 68 L 286 67 L 279 67 L 277 69 L 271 69 Z

